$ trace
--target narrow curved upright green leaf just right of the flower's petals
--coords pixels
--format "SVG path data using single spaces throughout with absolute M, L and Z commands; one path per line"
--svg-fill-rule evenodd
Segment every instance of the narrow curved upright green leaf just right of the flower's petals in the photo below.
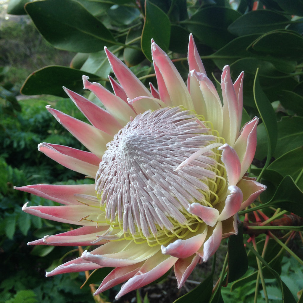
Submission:
M 256 72 L 255 82 L 254 82 L 254 99 L 255 99 L 255 104 L 258 108 L 258 112 L 264 123 L 267 133 L 267 138 L 268 138 L 267 161 L 264 166 L 265 169 L 266 166 L 269 164 L 269 161 L 277 144 L 277 121 L 276 121 L 274 109 L 271 106 L 271 103 L 269 102 L 268 98 L 266 97 L 266 95 L 261 89 L 258 80 L 258 70 Z M 261 176 L 261 174 L 259 176 Z

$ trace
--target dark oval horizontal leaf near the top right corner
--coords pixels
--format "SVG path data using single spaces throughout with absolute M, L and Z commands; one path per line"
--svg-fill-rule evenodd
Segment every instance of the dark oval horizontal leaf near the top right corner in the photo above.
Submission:
M 268 10 L 248 12 L 228 26 L 228 31 L 237 36 L 266 33 L 285 28 L 290 20 L 284 15 Z

